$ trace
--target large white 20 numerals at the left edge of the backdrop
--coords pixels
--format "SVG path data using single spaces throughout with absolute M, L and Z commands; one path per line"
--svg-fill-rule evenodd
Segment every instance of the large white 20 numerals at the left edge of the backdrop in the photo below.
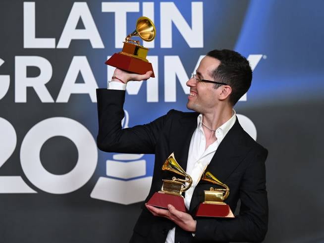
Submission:
M 13 153 L 17 136 L 14 127 L 0 117 L 0 167 Z M 70 139 L 78 150 L 75 167 L 66 174 L 47 171 L 40 159 L 40 150 L 52 137 Z M 52 194 L 67 194 L 85 185 L 93 175 L 98 160 L 96 142 L 81 123 L 66 117 L 45 119 L 34 125 L 24 137 L 20 148 L 20 163 L 28 180 L 37 188 Z M 37 193 L 21 176 L 0 176 L 0 193 Z

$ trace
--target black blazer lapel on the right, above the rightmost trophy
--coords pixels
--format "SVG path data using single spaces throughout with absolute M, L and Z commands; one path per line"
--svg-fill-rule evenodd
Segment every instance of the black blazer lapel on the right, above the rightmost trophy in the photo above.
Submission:
M 218 146 L 206 171 L 210 171 L 219 181 L 226 184 L 226 179 L 237 168 L 249 150 L 249 147 L 244 146 L 243 128 L 236 118 L 235 124 Z M 196 189 L 197 187 L 194 190 L 189 211 L 192 211 L 201 202 L 201 198 L 198 196 L 201 192 L 197 192 Z

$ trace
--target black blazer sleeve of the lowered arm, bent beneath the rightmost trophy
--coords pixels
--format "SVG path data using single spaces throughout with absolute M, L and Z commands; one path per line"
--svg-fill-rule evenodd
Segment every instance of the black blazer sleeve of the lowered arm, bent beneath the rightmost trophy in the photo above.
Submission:
M 256 149 L 255 149 L 256 150 Z M 268 150 L 252 151 L 240 184 L 241 207 L 234 219 L 198 218 L 195 240 L 212 242 L 262 242 L 268 229 L 265 161 Z

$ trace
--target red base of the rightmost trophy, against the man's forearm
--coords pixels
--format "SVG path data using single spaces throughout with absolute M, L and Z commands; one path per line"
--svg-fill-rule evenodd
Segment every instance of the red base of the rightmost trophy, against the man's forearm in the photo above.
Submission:
M 200 203 L 197 217 L 235 218 L 227 204 Z

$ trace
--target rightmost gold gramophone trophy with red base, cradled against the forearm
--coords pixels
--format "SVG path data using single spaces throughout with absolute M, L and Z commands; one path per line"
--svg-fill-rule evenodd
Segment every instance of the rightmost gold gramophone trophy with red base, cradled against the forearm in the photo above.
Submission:
M 234 218 L 234 214 L 230 207 L 224 202 L 229 195 L 229 187 L 221 183 L 212 173 L 206 172 L 202 176 L 203 181 L 211 182 L 219 188 L 210 188 L 210 191 L 204 191 L 205 201 L 198 206 L 197 217 L 219 217 L 219 218 Z

